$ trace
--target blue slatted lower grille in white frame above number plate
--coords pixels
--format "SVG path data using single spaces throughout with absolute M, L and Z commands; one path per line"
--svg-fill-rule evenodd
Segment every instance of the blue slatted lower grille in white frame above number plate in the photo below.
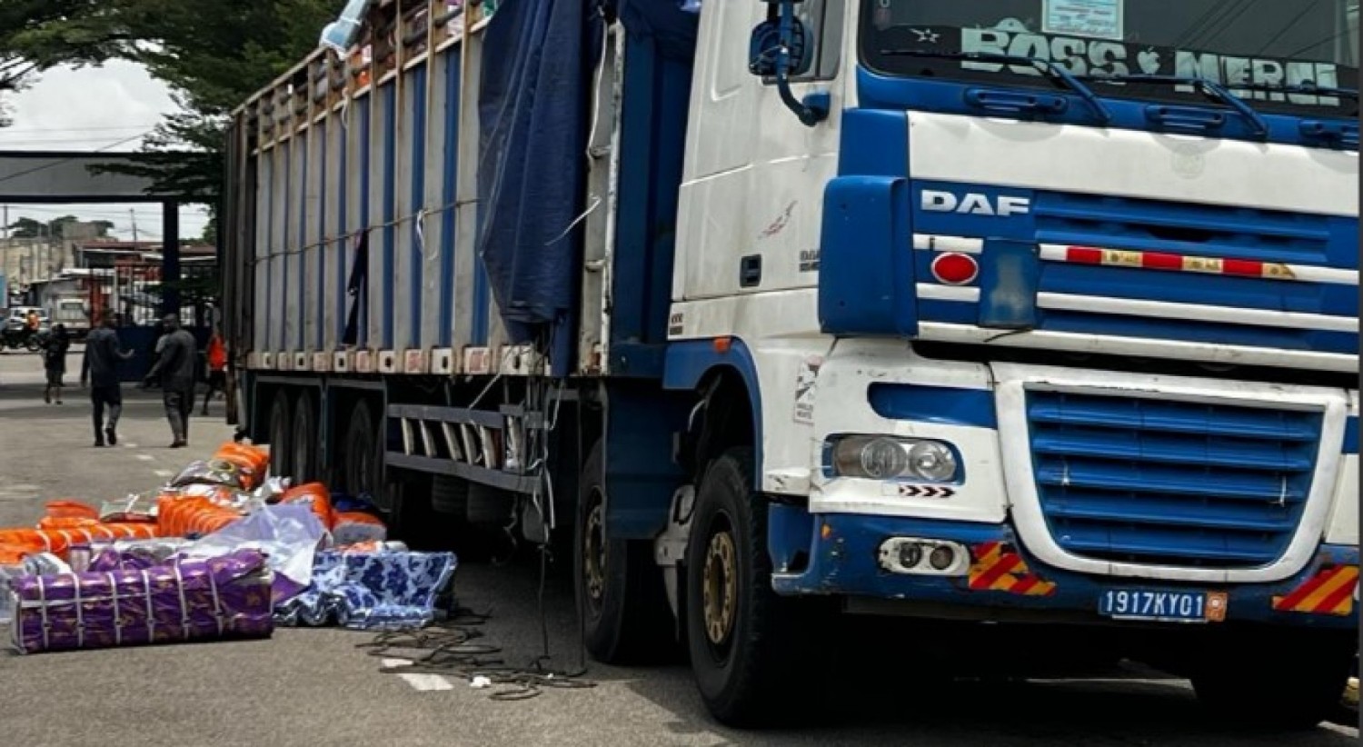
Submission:
M 1251 568 L 1287 551 L 1323 414 L 1223 403 L 1028 393 L 1041 513 L 1066 552 Z

